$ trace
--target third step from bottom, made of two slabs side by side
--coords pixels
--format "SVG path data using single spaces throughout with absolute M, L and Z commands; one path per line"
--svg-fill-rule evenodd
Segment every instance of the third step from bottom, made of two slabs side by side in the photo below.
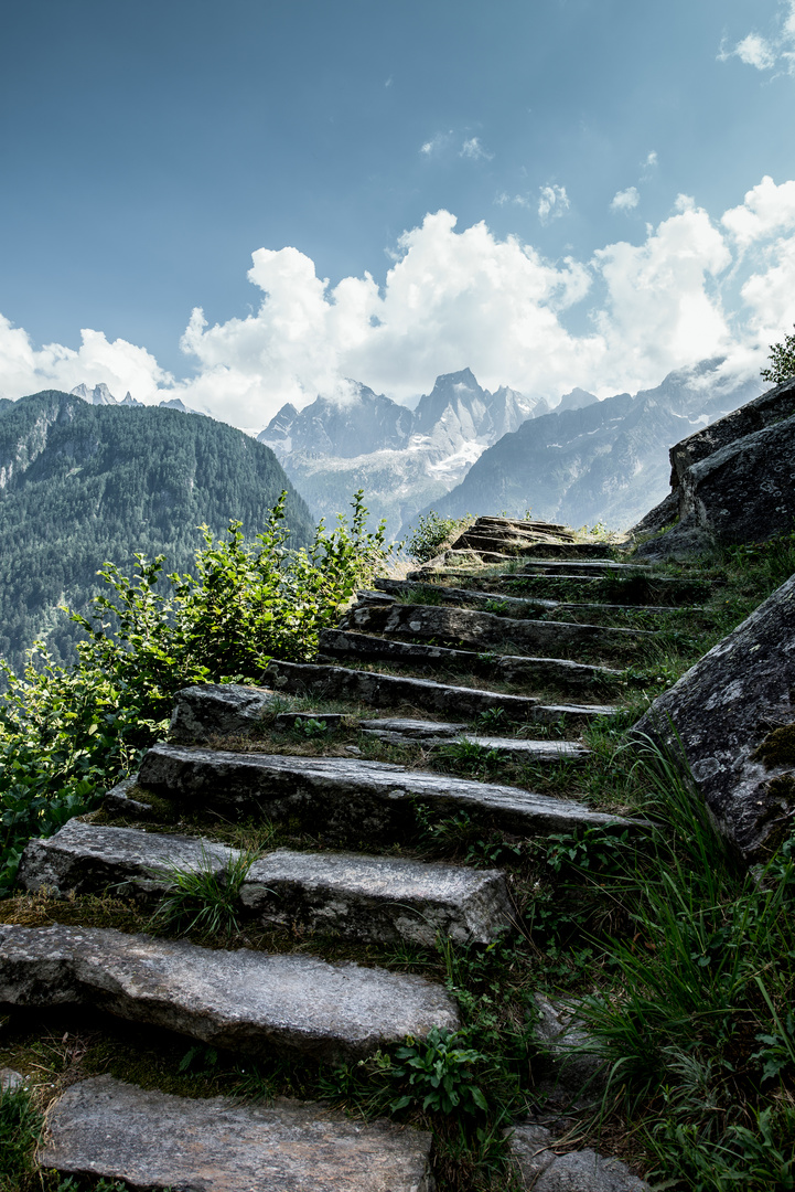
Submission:
M 236 849 L 195 837 L 70 820 L 31 840 L 19 867 L 27 890 L 100 894 L 108 888 L 158 902 L 173 867 L 213 874 L 224 884 Z M 502 874 L 395 857 L 277 849 L 251 863 L 240 887 L 240 917 L 267 926 L 299 924 L 364 943 L 433 946 L 489 943 L 511 924 Z

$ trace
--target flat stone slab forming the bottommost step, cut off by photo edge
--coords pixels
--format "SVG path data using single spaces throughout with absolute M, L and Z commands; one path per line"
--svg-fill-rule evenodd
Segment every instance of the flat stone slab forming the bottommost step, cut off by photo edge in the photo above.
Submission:
M 431 1192 L 430 1149 L 430 1134 L 320 1105 L 192 1100 L 94 1076 L 51 1106 L 37 1157 L 137 1192 Z

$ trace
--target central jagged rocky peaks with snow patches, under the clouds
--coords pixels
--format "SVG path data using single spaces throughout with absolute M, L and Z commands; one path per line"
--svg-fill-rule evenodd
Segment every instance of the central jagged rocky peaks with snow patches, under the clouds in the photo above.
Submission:
M 469 368 L 437 378 L 414 410 L 349 383 L 348 401 L 288 403 L 262 434 L 317 516 L 332 519 L 357 489 L 398 534 L 418 505 L 447 492 L 490 443 L 538 411 L 540 398 L 490 393 Z

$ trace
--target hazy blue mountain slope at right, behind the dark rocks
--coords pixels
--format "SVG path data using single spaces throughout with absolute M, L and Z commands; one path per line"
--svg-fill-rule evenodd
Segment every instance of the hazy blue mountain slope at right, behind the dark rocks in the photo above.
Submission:
M 455 517 L 472 509 L 532 509 L 534 517 L 572 526 L 627 528 L 665 496 L 668 448 L 762 391 L 759 380 L 724 378 L 722 362 L 671 372 L 634 397 L 619 393 L 524 422 L 484 451 L 433 508 Z

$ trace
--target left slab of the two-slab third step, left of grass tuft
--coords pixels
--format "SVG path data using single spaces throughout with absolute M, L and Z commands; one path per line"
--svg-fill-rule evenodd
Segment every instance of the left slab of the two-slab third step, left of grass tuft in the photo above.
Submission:
M 19 865 L 19 883 L 29 890 L 95 894 L 109 886 L 151 902 L 162 898 L 165 867 L 204 870 L 223 877 L 237 851 L 189 836 L 142 832 L 69 820 L 46 839 L 30 840 Z

